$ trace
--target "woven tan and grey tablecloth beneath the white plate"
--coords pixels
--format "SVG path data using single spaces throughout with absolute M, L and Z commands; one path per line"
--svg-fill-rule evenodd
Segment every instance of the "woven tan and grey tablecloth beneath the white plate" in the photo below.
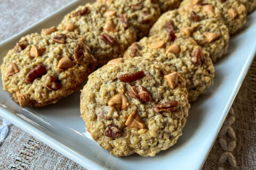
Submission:
M 0 42 L 70 2 L 0 0 Z M 203 169 L 256 169 L 256 60 L 232 108 Z M 84 168 L 10 125 L 9 134 L 0 144 L 0 169 Z

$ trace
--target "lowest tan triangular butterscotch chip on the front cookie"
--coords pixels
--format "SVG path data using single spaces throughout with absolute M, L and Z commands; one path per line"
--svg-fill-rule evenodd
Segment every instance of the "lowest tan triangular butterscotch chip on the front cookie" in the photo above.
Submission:
M 132 112 L 132 114 L 127 118 L 125 122 L 125 126 L 129 126 L 131 128 L 139 128 L 139 129 L 143 129 L 146 127 L 145 123 L 143 122 L 140 115 L 137 114 L 137 112 Z

